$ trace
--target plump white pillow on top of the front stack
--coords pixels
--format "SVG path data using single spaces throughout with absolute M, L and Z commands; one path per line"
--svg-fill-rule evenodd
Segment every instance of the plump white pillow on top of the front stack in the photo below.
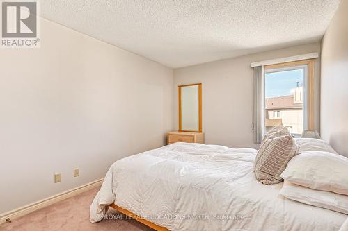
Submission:
M 280 177 L 311 189 L 348 195 L 348 158 L 322 151 L 300 153 Z

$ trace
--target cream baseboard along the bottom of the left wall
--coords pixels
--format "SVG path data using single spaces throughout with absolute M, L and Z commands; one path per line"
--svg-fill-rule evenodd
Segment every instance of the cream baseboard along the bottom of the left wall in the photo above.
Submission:
M 86 185 L 81 185 L 74 189 L 70 189 L 68 191 L 64 191 L 61 194 L 56 194 L 54 196 L 50 196 L 43 200 L 39 200 L 35 203 L 31 203 L 29 205 L 25 205 L 23 207 L 19 207 L 17 209 L 13 209 L 10 212 L 5 212 L 0 214 L 0 224 L 6 223 L 6 219 L 15 219 L 19 216 L 24 216 L 25 214 L 29 214 L 30 212 L 34 212 L 35 210 L 42 209 L 43 207 L 47 207 L 48 205 L 52 205 L 57 203 L 58 201 L 64 200 L 66 198 L 70 198 L 77 194 L 81 194 L 84 191 L 88 191 L 89 189 L 93 189 L 94 187 L 102 185 L 104 178 L 100 180 L 95 180 Z

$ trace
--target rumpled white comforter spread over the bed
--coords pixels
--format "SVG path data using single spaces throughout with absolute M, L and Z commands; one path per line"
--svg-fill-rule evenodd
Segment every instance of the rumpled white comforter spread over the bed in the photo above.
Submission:
M 175 143 L 115 162 L 90 206 L 108 204 L 169 230 L 339 230 L 347 215 L 278 196 L 255 180 L 256 150 Z

